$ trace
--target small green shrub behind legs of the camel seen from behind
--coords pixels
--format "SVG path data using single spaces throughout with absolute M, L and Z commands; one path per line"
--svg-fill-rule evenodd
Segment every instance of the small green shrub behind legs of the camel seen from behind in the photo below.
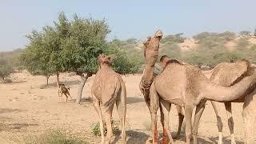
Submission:
M 113 119 L 111 119 L 111 124 L 112 124 L 112 131 L 113 131 L 113 134 L 119 134 L 119 129 L 118 129 L 118 126 L 116 124 L 116 122 L 114 122 Z M 95 136 L 101 136 L 101 130 L 100 130 L 100 125 L 99 125 L 99 122 L 97 123 L 94 123 L 90 126 L 90 132 L 92 134 L 94 134 Z M 106 136 L 106 126 L 104 126 L 104 135 Z

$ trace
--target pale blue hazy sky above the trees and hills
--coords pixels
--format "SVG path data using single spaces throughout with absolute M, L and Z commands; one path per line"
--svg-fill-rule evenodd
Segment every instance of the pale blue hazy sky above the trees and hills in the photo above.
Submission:
M 255 0 L 1 0 L 0 51 L 26 46 L 26 34 L 52 25 L 58 13 L 70 18 L 106 18 L 109 38 L 144 39 L 155 30 L 164 34 L 202 31 L 253 31 L 256 28 Z

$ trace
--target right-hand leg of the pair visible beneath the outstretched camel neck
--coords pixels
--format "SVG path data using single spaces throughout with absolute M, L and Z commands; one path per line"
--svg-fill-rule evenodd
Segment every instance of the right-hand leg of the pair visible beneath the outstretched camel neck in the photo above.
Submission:
M 235 139 L 234 139 L 234 120 L 232 117 L 232 110 L 231 110 L 231 102 L 224 102 L 225 108 L 226 108 L 226 115 L 228 118 L 228 125 L 230 128 L 230 137 L 231 137 L 231 143 L 235 144 Z

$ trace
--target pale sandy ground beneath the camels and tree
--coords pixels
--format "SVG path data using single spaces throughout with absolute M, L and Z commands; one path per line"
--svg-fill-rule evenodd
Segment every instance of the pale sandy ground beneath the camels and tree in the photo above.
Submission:
M 145 143 L 150 135 L 150 114 L 138 89 L 141 76 L 141 74 L 122 76 L 127 90 L 128 143 Z M 100 142 L 99 137 L 90 133 L 90 126 L 98 122 L 98 115 L 92 103 L 85 100 L 90 97 L 90 87 L 94 76 L 86 82 L 81 105 L 74 101 L 58 103 L 55 77 L 50 77 L 50 86 L 46 88 L 43 88 L 46 78 L 42 76 L 31 76 L 22 72 L 13 74 L 11 78 L 14 79 L 14 83 L 0 83 L 0 143 L 24 143 L 27 137 L 42 134 L 49 129 L 68 130 L 70 133 L 81 135 L 87 142 Z M 70 87 L 70 94 L 75 98 L 79 77 L 61 74 L 60 80 Z M 218 106 L 221 109 L 224 123 L 224 143 L 230 143 L 226 111 L 222 103 Z M 243 143 L 242 103 L 234 103 L 232 109 L 236 140 L 238 143 Z M 113 117 L 114 120 L 118 120 L 116 109 L 114 109 Z M 172 134 L 175 134 L 178 128 L 178 114 L 175 106 L 172 107 L 170 113 L 170 128 Z M 160 122 L 158 122 L 158 130 L 162 130 Z M 218 128 L 210 102 L 206 103 L 206 110 L 202 114 L 198 138 L 199 143 L 218 142 Z M 114 137 L 112 143 L 121 143 L 120 137 Z M 176 140 L 175 143 L 185 143 L 184 129 L 182 138 Z

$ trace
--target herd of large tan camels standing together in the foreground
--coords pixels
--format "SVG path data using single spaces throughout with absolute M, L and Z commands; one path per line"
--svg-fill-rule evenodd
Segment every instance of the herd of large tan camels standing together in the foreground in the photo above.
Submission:
M 222 143 L 222 119 L 215 102 L 225 104 L 231 143 L 235 143 L 231 102 L 244 103 L 242 117 L 246 127 L 245 143 L 255 143 L 253 128 L 256 119 L 256 72 L 255 68 L 250 66 L 250 62 L 244 59 L 233 63 L 223 62 L 213 70 L 202 71 L 196 66 L 178 62 L 164 55 L 160 58 L 162 72 L 155 74 L 154 65 L 158 60 L 161 38 L 162 31 L 158 30 L 154 37 L 144 42 L 146 65 L 139 88 L 151 115 L 152 133 L 148 142 L 158 143 L 157 111 L 160 108 L 163 128 L 162 143 L 174 143 L 169 126 L 170 106 L 174 104 L 179 120 L 178 134 L 175 137 L 180 137 L 183 118 L 186 118 L 186 143 L 190 143 L 192 136 L 194 143 L 197 143 L 198 123 L 206 101 L 210 100 L 218 122 L 218 144 Z M 121 76 L 112 70 L 110 66 L 112 58 L 114 58 L 113 55 L 100 54 L 98 56 L 99 70 L 94 78 L 91 93 L 94 108 L 99 117 L 102 143 L 110 143 L 113 135 L 111 116 L 114 103 L 116 103 L 122 124 L 122 143 L 126 143 L 126 86 Z M 196 110 L 192 126 L 191 118 L 194 107 Z M 103 122 L 106 122 L 106 138 Z

